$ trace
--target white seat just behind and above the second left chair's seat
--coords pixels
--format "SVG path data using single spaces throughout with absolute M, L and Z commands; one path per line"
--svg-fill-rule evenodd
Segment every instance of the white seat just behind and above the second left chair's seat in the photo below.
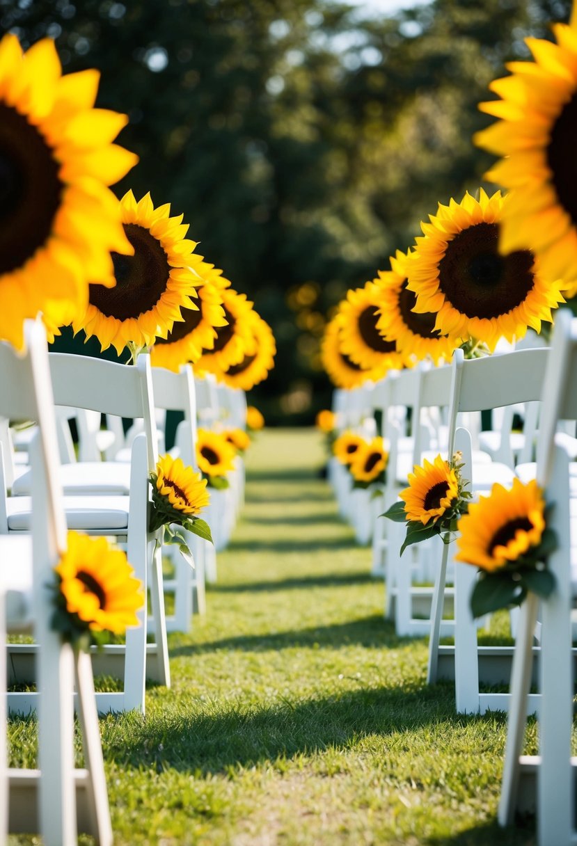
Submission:
M 82 461 L 78 464 L 62 464 L 60 481 L 63 492 L 69 496 L 90 496 L 107 494 L 126 496 L 130 490 L 130 465 L 115 461 Z M 30 496 L 30 470 L 14 481 L 14 497 Z

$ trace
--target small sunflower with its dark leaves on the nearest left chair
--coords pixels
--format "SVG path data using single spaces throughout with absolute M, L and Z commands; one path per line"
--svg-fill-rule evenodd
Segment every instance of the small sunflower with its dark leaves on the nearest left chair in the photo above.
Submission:
M 111 635 L 139 625 L 142 584 L 126 553 L 111 547 L 107 538 L 69 531 L 67 550 L 54 574 L 52 629 L 74 649 L 102 645 Z

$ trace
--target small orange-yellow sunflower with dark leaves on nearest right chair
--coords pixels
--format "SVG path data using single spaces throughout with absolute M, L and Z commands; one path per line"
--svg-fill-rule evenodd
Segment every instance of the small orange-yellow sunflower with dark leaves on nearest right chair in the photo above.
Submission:
M 528 591 L 549 596 L 555 583 L 547 557 L 557 547 L 549 508 L 536 481 L 514 479 L 510 489 L 493 485 L 459 519 L 455 558 L 481 571 L 470 601 L 474 617 L 520 605 Z

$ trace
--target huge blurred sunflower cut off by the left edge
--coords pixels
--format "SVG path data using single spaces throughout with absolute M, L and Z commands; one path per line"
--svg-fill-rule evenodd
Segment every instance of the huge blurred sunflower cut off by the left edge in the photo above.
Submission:
M 88 302 L 88 283 L 113 285 L 110 250 L 129 253 L 108 189 L 138 161 L 112 143 L 124 114 L 94 108 L 99 74 L 62 75 L 54 42 L 23 52 L 0 41 L 0 338 L 20 348 L 23 321 L 49 329 Z

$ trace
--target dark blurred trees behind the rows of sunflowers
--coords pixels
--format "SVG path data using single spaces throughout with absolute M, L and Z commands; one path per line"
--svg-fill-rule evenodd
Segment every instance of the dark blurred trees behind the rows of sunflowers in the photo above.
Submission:
M 250 393 L 269 425 L 330 405 L 331 309 L 482 184 L 477 103 L 567 19 L 569 0 L 0 0 L 4 31 L 52 36 L 67 72 L 101 70 L 97 105 L 128 113 L 140 163 L 118 196 L 183 212 L 272 326 L 276 368 Z

